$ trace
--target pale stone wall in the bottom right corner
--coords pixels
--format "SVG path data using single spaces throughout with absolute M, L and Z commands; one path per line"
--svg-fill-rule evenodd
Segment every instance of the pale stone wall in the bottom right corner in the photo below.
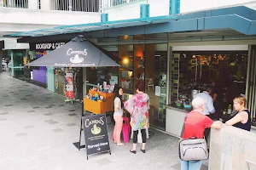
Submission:
M 223 125 L 211 130 L 209 170 L 255 170 L 256 134 Z

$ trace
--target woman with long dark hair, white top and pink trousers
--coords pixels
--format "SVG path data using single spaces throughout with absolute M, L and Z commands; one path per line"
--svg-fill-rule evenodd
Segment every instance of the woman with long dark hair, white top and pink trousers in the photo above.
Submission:
M 114 112 L 113 112 L 113 120 L 115 122 L 115 126 L 113 129 L 113 139 L 114 143 L 118 146 L 124 145 L 121 143 L 121 131 L 123 127 L 123 108 L 124 104 L 122 102 L 123 88 L 115 88 L 115 99 L 114 99 Z

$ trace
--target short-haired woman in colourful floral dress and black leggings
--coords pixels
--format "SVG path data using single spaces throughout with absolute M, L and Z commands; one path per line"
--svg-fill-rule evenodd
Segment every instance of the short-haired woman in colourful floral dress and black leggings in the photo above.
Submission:
M 137 148 L 137 134 L 141 130 L 143 136 L 142 152 L 145 153 L 146 146 L 146 129 L 149 127 L 148 110 L 149 110 L 149 97 L 148 94 L 143 93 L 144 85 L 139 83 L 136 86 L 136 92 L 131 99 L 125 102 L 125 109 L 131 113 L 131 128 L 133 130 L 133 147 L 131 153 L 136 154 Z

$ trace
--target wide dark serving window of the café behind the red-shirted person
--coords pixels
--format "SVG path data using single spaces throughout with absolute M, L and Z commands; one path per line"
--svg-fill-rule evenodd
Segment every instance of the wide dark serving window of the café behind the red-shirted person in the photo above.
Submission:
M 207 85 L 212 85 L 211 95 L 218 94 L 215 108 L 218 112 L 227 110 L 236 96 L 245 94 L 247 51 L 173 52 L 171 62 L 171 105 L 174 107 L 191 110 L 195 94 Z

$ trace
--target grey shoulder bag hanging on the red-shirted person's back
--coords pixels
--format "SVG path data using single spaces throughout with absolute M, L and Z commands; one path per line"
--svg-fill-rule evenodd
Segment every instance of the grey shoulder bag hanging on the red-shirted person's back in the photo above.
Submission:
M 181 137 L 183 135 L 187 115 L 184 118 L 183 130 Z M 181 139 L 178 146 L 179 158 L 183 161 L 197 161 L 197 160 L 207 160 L 208 150 L 207 150 L 207 141 L 205 138 L 190 138 L 190 139 Z

